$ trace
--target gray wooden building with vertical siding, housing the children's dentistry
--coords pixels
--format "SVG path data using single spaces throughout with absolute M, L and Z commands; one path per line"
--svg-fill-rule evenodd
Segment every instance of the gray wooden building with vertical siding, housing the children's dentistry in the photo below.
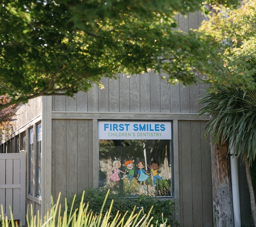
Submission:
M 179 16 L 183 31 L 196 29 L 201 13 Z M 196 118 L 205 86 L 171 86 L 154 72 L 102 78 L 74 97 L 43 96 L 21 105 L 17 125 L 0 141 L 1 152 L 27 151 L 26 203 L 44 215 L 51 195 L 64 196 L 100 184 L 99 122 L 170 122 L 171 193 L 181 226 L 212 226 L 210 140 L 203 139 L 207 120 Z M 150 171 L 149 171 L 150 172 Z M 244 176 L 244 169 L 240 174 Z M 213 179 L 214 180 L 214 179 Z M 242 224 L 250 226 L 247 188 L 241 177 Z M 38 184 L 38 182 L 40 182 Z M 158 181 L 157 181 L 158 182 Z

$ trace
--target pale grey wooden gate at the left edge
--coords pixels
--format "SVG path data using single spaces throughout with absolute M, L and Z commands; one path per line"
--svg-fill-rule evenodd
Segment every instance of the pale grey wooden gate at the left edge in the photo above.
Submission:
M 0 154 L 0 208 L 1 205 L 4 216 L 10 218 L 12 212 L 13 219 L 25 225 L 26 151 Z

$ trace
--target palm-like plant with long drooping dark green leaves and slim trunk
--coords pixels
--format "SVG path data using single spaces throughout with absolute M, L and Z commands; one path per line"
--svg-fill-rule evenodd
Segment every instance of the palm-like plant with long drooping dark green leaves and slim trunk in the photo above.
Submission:
M 200 98 L 199 103 L 205 105 L 198 110 L 198 116 L 210 117 L 205 136 L 211 133 L 212 143 L 227 143 L 233 147 L 234 155 L 244 159 L 253 222 L 256 223 L 250 175 L 250 165 L 256 154 L 256 89 L 243 91 L 229 84 L 217 84 L 216 87 L 216 93 L 209 92 Z

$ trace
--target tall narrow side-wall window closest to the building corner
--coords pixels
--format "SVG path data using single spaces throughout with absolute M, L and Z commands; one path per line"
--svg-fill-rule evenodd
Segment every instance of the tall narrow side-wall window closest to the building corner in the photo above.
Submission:
M 41 123 L 37 124 L 37 158 L 36 158 L 36 196 L 41 196 L 41 140 L 42 140 L 42 127 Z

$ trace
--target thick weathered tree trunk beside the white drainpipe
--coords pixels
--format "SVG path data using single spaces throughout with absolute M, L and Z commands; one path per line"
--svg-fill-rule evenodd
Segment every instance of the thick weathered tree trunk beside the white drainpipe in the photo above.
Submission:
M 230 157 L 227 145 L 211 145 L 213 226 L 232 227 L 233 201 L 231 189 Z

